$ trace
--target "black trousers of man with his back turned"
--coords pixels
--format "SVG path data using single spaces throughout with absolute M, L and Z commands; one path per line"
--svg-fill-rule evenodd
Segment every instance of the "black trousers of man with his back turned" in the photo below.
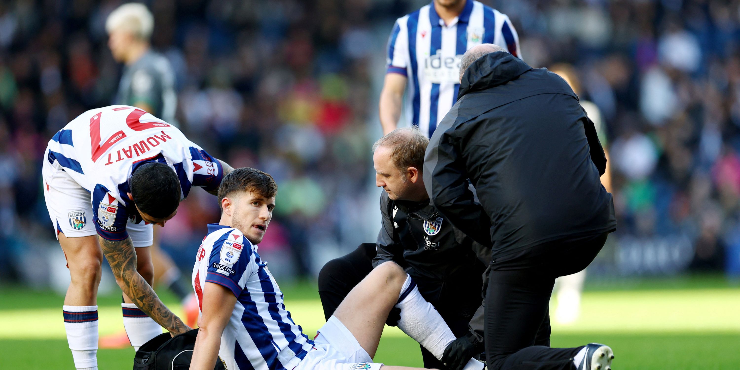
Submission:
M 517 266 L 515 269 L 508 269 L 506 263 L 491 263 L 485 295 L 488 369 L 576 369 L 573 356 L 583 346 L 553 349 L 536 346 L 535 340 L 548 317 L 555 278 L 585 269 L 601 251 L 607 235 L 548 243 L 538 249 L 545 252 L 511 261 Z

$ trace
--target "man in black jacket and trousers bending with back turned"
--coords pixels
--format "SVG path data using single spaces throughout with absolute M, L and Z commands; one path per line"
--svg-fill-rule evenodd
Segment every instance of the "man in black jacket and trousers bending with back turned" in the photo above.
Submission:
M 494 44 L 468 50 L 460 78 L 457 103 L 426 149 L 423 177 L 444 218 L 492 245 L 488 369 L 610 370 L 613 353 L 602 344 L 535 346 L 555 278 L 585 269 L 616 229 L 593 122 L 562 78 Z

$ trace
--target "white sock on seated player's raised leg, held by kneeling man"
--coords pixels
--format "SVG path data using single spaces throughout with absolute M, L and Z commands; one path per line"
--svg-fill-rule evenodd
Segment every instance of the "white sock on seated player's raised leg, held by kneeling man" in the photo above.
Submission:
M 434 309 L 434 306 L 421 296 L 411 276 L 406 275 L 396 307 L 401 309 L 398 329 L 414 338 L 434 357 L 437 357 L 437 360 L 442 360 L 442 354 L 456 339 L 455 335 L 452 334 L 437 309 Z M 483 363 L 472 358 L 463 368 L 463 370 L 481 369 L 483 369 Z

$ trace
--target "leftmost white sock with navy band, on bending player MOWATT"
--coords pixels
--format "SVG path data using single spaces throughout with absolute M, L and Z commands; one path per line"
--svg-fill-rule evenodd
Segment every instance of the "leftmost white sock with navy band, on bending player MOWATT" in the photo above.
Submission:
M 62 306 L 75 368 L 98 370 L 98 306 Z

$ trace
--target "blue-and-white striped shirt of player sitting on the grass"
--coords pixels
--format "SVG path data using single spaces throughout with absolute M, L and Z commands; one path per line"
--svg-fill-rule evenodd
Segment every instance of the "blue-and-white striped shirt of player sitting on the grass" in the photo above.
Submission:
M 230 226 L 211 223 L 198 248 L 192 283 L 203 308 L 203 286 L 216 283 L 237 297 L 218 354 L 229 370 L 291 370 L 314 345 L 283 304 L 283 293 L 257 246 Z

